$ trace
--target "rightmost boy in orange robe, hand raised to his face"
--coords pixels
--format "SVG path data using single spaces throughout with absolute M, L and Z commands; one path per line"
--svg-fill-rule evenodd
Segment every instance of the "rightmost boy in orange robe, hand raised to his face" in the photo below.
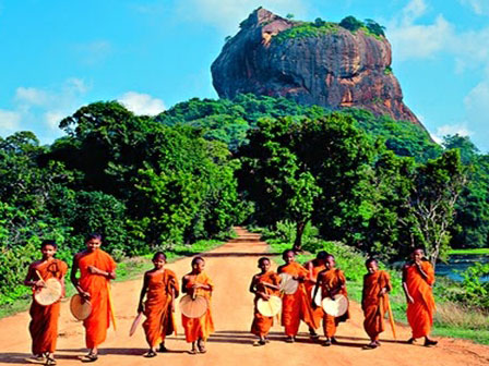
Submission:
M 434 297 L 431 286 L 434 283 L 434 270 L 425 259 L 421 248 L 413 251 L 412 261 L 403 267 L 403 289 L 407 300 L 407 320 L 413 337 L 407 341 L 414 343 L 425 337 L 425 345 L 436 345 L 438 341 L 429 338 L 433 325 Z

